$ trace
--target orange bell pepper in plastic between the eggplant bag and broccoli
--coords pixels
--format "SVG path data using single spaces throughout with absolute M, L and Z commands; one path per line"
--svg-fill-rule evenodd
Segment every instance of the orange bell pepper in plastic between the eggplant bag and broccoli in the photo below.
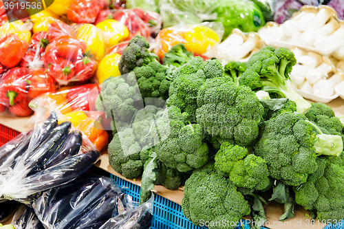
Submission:
M 69 122 L 73 123 L 74 127 L 83 131 L 99 151 L 107 144 L 107 141 L 109 140 L 107 131 L 103 129 L 102 125 L 98 121 L 87 117 L 85 112 L 73 111 L 71 113 L 66 113 L 65 117 Z

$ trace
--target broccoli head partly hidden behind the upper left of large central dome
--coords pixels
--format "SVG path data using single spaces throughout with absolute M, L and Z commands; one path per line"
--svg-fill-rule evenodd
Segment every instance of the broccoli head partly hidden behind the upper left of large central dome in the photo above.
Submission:
M 217 60 L 204 62 L 202 58 L 195 57 L 173 72 L 173 83 L 169 89 L 167 106 L 179 107 L 182 112 L 195 115 L 197 109 L 197 91 L 207 78 L 224 75 L 222 65 Z

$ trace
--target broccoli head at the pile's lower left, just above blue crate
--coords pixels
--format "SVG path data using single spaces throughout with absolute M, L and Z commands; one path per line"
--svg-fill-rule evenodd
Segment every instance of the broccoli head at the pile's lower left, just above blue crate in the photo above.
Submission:
M 107 151 L 110 166 L 116 172 L 122 173 L 128 179 L 136 178 L 142 174 L 141 147 L 135 135 L 133 135 L 132 129 L 125 129 L 116 133 Z

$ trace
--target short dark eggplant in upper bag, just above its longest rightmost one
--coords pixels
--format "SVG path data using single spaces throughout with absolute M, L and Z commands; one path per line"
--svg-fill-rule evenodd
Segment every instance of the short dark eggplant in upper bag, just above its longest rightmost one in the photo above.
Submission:
M 83 145 L 83 135 L 80 131 L 72 131 L 69 134 L 65 144 L 61 147 L 61 151 L 55 151 L 49 160 L 44 164 L 44 169 L 54 166 L 58 162 L 61 162 L 67 157 L 72 157 L 79 153 L 81 146 Z

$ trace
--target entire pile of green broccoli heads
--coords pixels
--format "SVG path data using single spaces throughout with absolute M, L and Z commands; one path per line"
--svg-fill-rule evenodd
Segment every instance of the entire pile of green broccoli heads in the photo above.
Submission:
M 185 183 L 182 210 L 197 226 L 224 219 L 235 228 L 250 212 L 264 223 L 258 193 L 272 188 L 271 199 L 286 204 L 282 221 L 295 202 L 318 219 L 343 219 L 344 126 L 330 107 L 294 91 L 292 52 L 264 47 L 222 67 L 180 44 L 164 66 L 148 47 L 140 36 L 130 41 L 120 63 L 127 76 L 105 80 L 96 100 L 116 127 L 127 122 L 109 144 L 115 171 L 129 179 L 144 172 L 143 191 Z

